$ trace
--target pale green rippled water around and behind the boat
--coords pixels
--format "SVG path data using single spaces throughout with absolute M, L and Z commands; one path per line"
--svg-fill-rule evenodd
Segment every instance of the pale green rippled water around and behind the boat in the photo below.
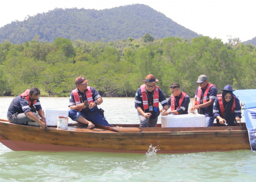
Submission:
M 12 99 L 0 97 L 0 118 L 6 119 Z M 42 107 L 56 109 L 66 109 L 68 101 L 40 98 Z M 139 123 L 134 98 L 103 98 L 99 107 L 109 123 Z M 144 154 L 29 152 L 0 144 L 0 181 L 256 181 L 256 153 L 251 150 L 187 154 L 157 150 L 148 144 Z

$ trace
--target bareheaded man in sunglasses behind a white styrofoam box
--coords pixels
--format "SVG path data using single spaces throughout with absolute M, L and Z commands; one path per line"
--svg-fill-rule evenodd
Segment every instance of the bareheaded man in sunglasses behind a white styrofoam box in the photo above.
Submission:
M 188 114 L 188 104 L 190 102 L 189 96 L 180 90 L 180 85 L 178 83 L 172 83 L 170 85 L 170 90 L 172 95 L 168 99 L 167 103 L 171 110 L 169 112 L 162 113 L 163 116 L 168 114 Z M 162 112 L 163 109 L 160 110 Z

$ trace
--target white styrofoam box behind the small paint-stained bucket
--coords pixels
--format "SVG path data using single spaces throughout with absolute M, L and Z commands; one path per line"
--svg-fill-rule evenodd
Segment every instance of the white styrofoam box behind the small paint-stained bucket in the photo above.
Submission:
M 68 118 L 68 110 L 44 108 L 44 112 L 47 126 L 57 126 L 59 116 L 64 116 Z

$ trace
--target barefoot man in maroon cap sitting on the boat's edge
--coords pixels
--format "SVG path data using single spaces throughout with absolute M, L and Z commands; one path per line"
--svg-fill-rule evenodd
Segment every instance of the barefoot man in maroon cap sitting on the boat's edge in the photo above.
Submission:
M 83 76 L 75 79 L 76 89 L 69 96 L 69 118 L 88 124 L 87 129 L 93 128 L 94 124 L 109 126 L 107 120 L 99 112 L 97 105 L 103 102 L 98 91 L 88 86 L 88 81 Z

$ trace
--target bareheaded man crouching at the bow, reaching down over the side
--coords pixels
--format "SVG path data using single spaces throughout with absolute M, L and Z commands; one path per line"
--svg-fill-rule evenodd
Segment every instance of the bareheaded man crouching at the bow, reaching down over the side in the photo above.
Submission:
M 9 122 L 15 124 L 27 123 L 47 128 L 39 96 L 40 90 L 36 87 L 30 90 L 27 89 L 16 96 L 8 108 L 7 118 Z

